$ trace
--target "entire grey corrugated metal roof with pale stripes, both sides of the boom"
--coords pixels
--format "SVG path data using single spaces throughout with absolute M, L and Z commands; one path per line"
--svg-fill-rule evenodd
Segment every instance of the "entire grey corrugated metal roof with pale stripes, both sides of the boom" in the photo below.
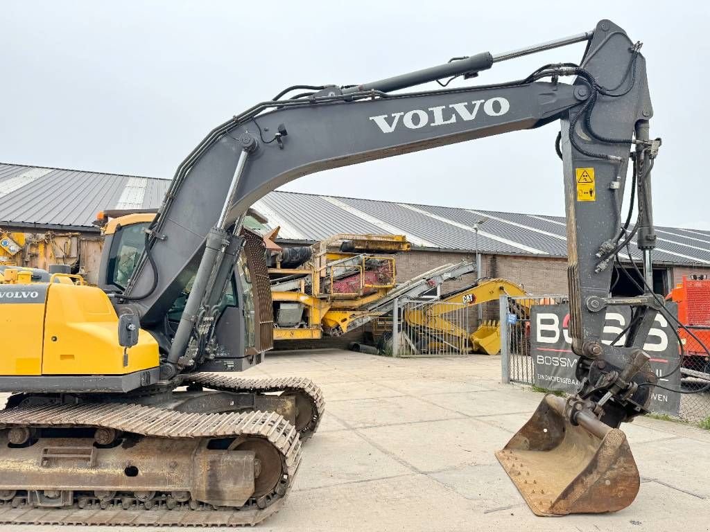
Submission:
M 89 228 L 102 209 L 160 206 L 168 179 L 0 163 L 0 225 Z M 415 246 L 564 257 L 564 218 L 542 214 L 405 204 L 297 192 L 271 192 L 254 204 L 288 240 L 334 233 L 404 234 Z M 317 213 L 317 216 L 314 214 Z M 710 267 L 710 231 L 658 227 L 654 260 Z M 635 258 L 640 253 L 631 249 Z M 624 255 L 622 255 L 623 257 Z

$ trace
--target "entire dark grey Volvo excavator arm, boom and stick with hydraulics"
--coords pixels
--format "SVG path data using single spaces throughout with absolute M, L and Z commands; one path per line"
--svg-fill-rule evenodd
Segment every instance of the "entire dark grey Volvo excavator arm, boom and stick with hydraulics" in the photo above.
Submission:
M 393 92 L 448 76 L 474 77 L 496 62 L 583 41 L 587 47 L 579 65 L 545 65 L 525 79 L 505 84 Z M 367 84 L 310 87 L 312 92 L 281 99 L 287 90 L 263 101 L 215 128 L 178 167 L 118 306 L 138 314 L 143 328 L 157 331 L 175 297 L 194 279 L 178 329 L 170 335 L 161 375 L 168 378 L 199 368 L 209 358 L 214 309 L 239 255 L 241 221 L 254 201 L 312 172 L 559 121 L 570 335 L 579 355 L 581 387 L 576 397 L 562 404 L 550 399 L 546 408 L 569 426 L 584 426 L 587 435 L 608 435 L 611 428 L 646 411 L 655 383 L 642 345 L 659 309 L 657 298 L 650 291 L 635 298 L 609 294 L 610 265 L 633 236 L 643 250 L 645 280 L 650 284 L 655 240 L 650 168 L 660 141 L 649 138 L 652 107 L 639 48 L 623 29 L 604 20 L 594 31 L 543 45 L 498 55 L 484 52 Z M 632 147 L 635 151 L 630 153 Z M 633 230 L 621 214 L 630 157 L 638 187 L 639 220 Z M 532 174 L 527 162 L 520 165 Z M 601 342 L 605 309 L 616 305 L 633 309 L 623 346 Z M 542 430 L 539 423 L 530 428 L 538 429 Z M 584 441 L 580 438 L 570 443 L 572 448 L 579 448 Z M 535 442 L 542 444 L 540 436 L 527 433 L 511 440 L 509 446 L 514 445 L 507 449 L 517 453 L 520 445 L 528 445 L 530 451 Z M 510 471 L 514 465 L 515 460 L 506 467 Z M 594 479 L 584 485 L 601 482 Z M 579 484 L 570 484 L 559 497 L 569 501 L 572 490 L 579 498 L 579 489 L 584 491 Z M 530 497 L 528 503 L 542 508 L 541 514 L 590 511 L 589 504 L 570 509 Z

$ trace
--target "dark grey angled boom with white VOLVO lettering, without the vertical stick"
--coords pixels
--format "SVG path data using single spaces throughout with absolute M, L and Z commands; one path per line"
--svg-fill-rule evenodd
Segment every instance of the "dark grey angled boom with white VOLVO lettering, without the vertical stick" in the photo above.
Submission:
M 226 268 L 222 277 L 216 275 L 221 264 L 216 257 L 225 243 L 231 245 L 238 234 L 234 227 L 253 201 L 311 172 L 540 126 L 579 105 L 574 92 L 559 82 L 526 82 L 261 104 L 217 128 L 189 165 L 180 167 L 151 228 L 147 253 L 119 301 L 141 316 L 143 328 L 155 330 L 195 277 L 164 375 L 174 374 L 171 367 L 195 367 L 201 353 L 186 355 L 186 350 L 195 338 L 197 316 L 221 297 L 229 273 Z

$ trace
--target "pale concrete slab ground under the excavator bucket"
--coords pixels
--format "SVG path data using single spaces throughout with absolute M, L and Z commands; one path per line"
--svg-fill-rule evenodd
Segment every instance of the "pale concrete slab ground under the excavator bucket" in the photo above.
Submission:
M 493 452 L 542 394 L 500 384 L 496 357 L 303 351 L 269 355 L 249 375 L 307 376 L 326 397 L 289 499 L 263 531 L 710 530 L 710 432 L 656 419 L 623 427 L 642 475 L 631 506 L 597 516 L 532 514 Z

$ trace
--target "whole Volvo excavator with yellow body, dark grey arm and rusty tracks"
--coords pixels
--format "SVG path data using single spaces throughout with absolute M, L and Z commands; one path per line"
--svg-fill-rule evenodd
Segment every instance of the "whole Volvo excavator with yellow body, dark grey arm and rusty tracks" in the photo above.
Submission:
M 572 43 L 586 43 L 579 65 L 401 92 Z M 660 147 L 651 116 L 640 43 L 608 20 L 375 82 L 294 85 L 232 116 L 180 162 L 144 231 L 116 228 L 103 287 L 55 282 L 60 273 L 0 285 L 4 330 L 22 331 L 0 365 L 0 392 L 11 394 L 0 411 L 0 523 L 239 525 L 273 514 L 323 399 L 307 379 L 232 375 L 263 362 L 272 338 L 263 239 L 243 226 L 249 206 L 312 172 L 548 123 L 559 126 L 581 385 L 545 397 L 497 456 L 535 514 L 625 508 L 639 475 L 619 427 L 648 412 L 656 376 L 643 343 L 664 310 L 648 288 Z M 621 213 L 630 160 L 633 229 Z M 610 266 L 633 238 L 648 289 L 610 297 Z M 119 279 L 123 243 L 139 253 Z M 606 345 L 605 309 L 619 305 L 634 318 L 624 345 Z

